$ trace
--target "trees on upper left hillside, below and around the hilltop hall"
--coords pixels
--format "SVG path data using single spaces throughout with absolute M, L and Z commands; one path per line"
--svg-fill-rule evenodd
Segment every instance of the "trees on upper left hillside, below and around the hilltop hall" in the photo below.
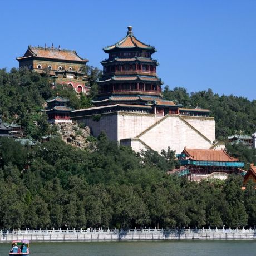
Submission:
M 0 114 L 3 120 L 21 124 L 26 134 L 34 139 L 53 133 L 41 111 L 45 100 L 59 95 L 68 97 L 70 106 L 75 109 L 91 106 L 91 99 L 97 93 L 95 80 L 101 76 L 101 71 L 86 66 L 85 72 L 92 87 L 91 94 L 87 97 L 81 93 L 77 97 L 77 93 L 67 86 L 57 85 L 56 90 L 52 90 L 47 72 L 41 76 L 27 68 L 12 68 L 9 73 L 0 70 Z

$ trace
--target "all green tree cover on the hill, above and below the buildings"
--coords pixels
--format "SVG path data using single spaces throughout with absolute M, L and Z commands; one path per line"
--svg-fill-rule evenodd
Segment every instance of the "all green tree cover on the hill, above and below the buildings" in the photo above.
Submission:
M 77 97 L 60 85 L 52 90 L 47 73 L 0 70 L 0 114 L 4 121 L 21 124 L 34 139 L 54 133 L 41 111 L 45 99 L 58 94 L 76 109 L 91 106 L 101 72 L 88 66 L 85 71 L 92 86 L 89 97 Z M 255 130 L 255 100 L 220 97 L 211 90 L 189 95 L 184 88 L 165 87 L 163 94 L 184 106 L 211 109 L 219 140 L 235 131 Z M 139 155 L 104 134 L 98 141 L 90 136 L 88 142 L 93 150 L 75 149 L 58 138 L 32 148 L 0 139 L 0 228 L 256 225 L 255 190 L 250 182 L 241 190 L 240 176 L 189 182 L 166 175 L 179 165 L 171 149 Z M 247 147 L 228 145 L 228 151 L 247 166 L 256 161 L 255 151 Z

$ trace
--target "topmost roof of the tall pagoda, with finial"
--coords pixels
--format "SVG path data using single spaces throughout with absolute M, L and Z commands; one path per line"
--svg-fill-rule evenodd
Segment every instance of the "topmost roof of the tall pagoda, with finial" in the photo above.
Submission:
M 114 45 L 103 48 L 103 50 L 105 52 L 110 52 L 117 49 L 132 50 L 134 48 L 140 48 L 142 50 L 150 50 L 151 52 L 156 51 L 154 46 L 146 45 L 146 43 L 142 43 L 141 41 L 137 40 L 137 38 L 132 33 L 132 27 L 129 26 L 126 37 L 122 38 L 119 42 L 115 43 Z

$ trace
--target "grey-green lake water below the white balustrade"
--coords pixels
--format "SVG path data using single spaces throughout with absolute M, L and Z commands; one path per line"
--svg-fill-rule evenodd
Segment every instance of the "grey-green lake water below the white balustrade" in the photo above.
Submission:
M 8 256 L 10 244 L 0 243 Z M 31 256 L 255 256 L 256 240 L 31 243 Z

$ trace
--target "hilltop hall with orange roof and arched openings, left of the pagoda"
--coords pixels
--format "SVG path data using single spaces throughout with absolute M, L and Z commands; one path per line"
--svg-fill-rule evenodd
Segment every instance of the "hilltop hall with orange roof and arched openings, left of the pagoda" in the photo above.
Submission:
M 22 57 L 16 58 L 19 68 L 27 67 L 38 73 L 47 72 L 53 86 L 68 85 L 78 93 L 88 93 L 88 77 L 83 71 L 88 60 L 77 55 L 76 51 L 53 47 L 28 46 Z

